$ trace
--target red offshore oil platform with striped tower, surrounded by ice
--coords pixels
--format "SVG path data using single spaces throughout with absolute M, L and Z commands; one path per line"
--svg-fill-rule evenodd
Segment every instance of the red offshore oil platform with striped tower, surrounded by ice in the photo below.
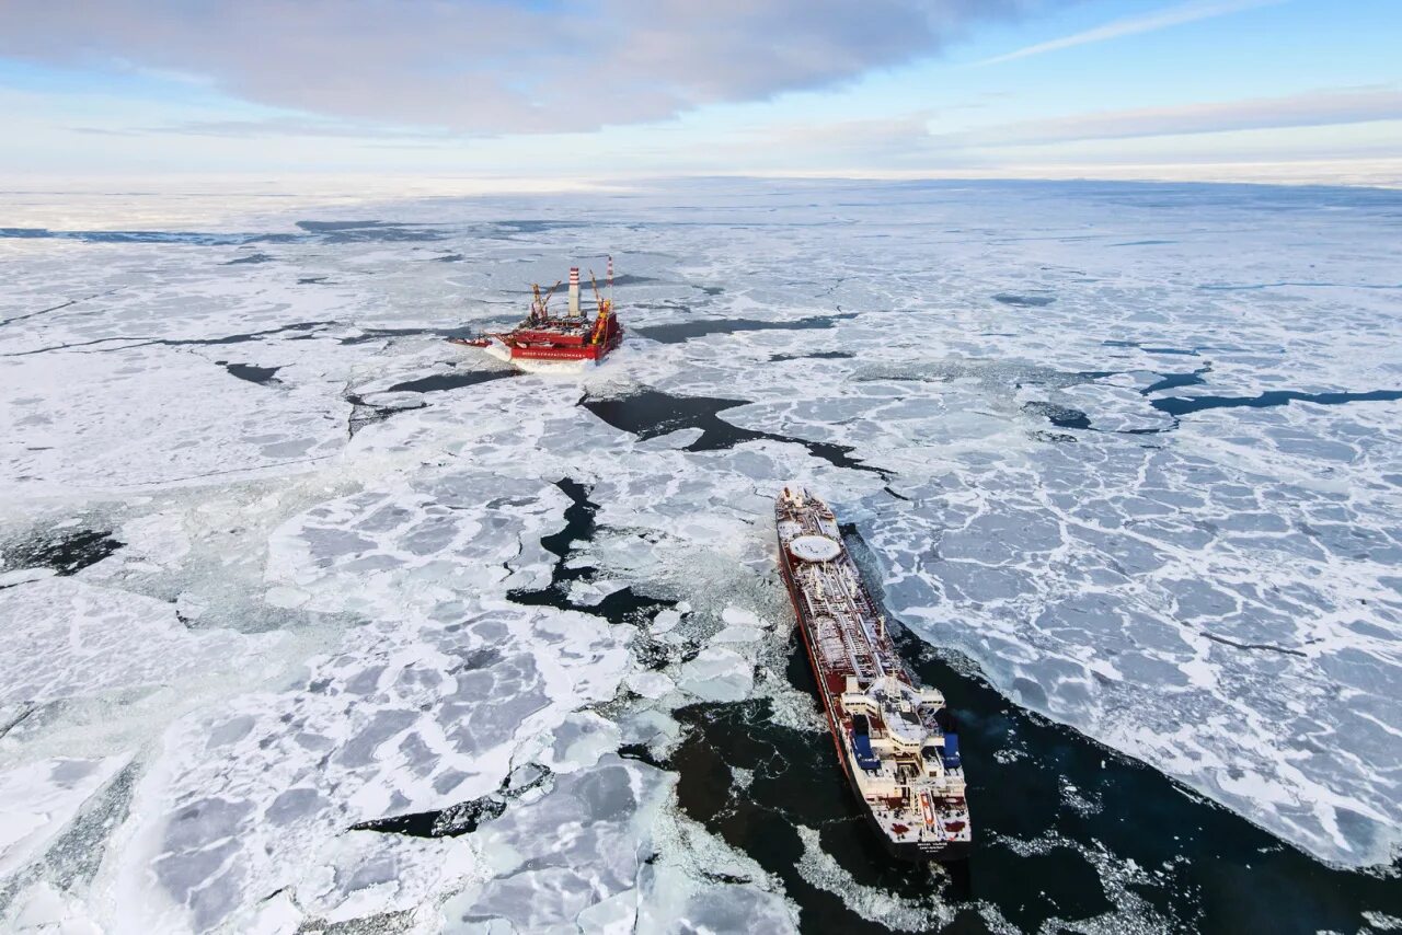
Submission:
M 593 276 L 590 275 L 590 280 Z M 608 258 L 608 293 L 599 294 L 599 283 L 593 283 L 594 314 L 579 306 L 579 268 L 569 271 L 569 306 L 562 315 L 551 314 L 550 297 L 559 287 L 557 282 L 541 294 L 540 286 L 531 286 L 530 314 L 510 331 L 486 334 L 477 338 L 450 338 L 454 343 L 485 348 L 503 360 L 519 367 L 537 363 L 599 363 L 622 341 L 622 325 L 613 306 L 613 257 Z

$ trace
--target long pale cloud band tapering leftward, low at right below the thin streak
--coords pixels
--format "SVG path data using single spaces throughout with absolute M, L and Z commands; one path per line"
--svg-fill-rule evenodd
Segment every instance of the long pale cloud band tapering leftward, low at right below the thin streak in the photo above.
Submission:
M 1288 97 L 1105 111 L 1022 121 L 930 137 L 941 147 L 1040 146 L 1078 140 L 1180 136 L 1232 130 L 1333 126 L 1402 119 L 1402 91 L 1389 86 L 1338 88 Z

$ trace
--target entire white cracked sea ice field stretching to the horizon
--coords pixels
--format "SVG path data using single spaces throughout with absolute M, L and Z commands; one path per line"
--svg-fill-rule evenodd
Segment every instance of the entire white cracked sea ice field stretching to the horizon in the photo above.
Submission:
M 764 663 L 789 479 L 1022 707 L 1323 861 L 1396 852 L 1395 199 L 158 207 L 0 237 L 0 927 L 792 929 L 659 758 L 695 704 L 817 736 Z M 604 366 L 442 339 L 604 250 Z

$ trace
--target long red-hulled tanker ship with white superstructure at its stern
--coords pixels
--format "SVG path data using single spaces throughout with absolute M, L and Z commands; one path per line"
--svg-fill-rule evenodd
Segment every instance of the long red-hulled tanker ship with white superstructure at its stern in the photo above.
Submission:
M 774 519 L 837 758 L 871 824 L 893 856 L 966 856 L 969 806 L 945 697 L 906 670 L 833 512 L 803 488 L 784 488 Z

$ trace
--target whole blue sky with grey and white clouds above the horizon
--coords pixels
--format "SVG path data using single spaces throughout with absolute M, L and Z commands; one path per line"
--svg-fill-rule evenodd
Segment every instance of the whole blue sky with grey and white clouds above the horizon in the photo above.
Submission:
M 1402 0 L 0 0 L 6 178 L 1402 184 Z

